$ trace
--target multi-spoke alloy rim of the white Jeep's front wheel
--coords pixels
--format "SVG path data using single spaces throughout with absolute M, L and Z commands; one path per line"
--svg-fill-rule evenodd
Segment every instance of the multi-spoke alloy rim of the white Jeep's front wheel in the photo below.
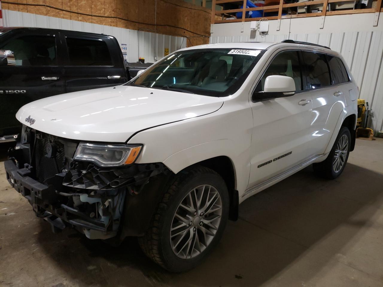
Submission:
M 211 243 L 221 222 L 222 200 L 214 186 L 204 184 L 182 199 L 170 227 L 170 245 L 182 259 L 201 254 Z

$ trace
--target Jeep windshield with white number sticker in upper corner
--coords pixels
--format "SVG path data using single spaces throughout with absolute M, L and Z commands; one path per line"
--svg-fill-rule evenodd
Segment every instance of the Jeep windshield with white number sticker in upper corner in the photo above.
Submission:
M 179 51 L 160 60 L 126 85 L 229 96 L 241 87 L 263 54 L 264 50 L 244 49 Z

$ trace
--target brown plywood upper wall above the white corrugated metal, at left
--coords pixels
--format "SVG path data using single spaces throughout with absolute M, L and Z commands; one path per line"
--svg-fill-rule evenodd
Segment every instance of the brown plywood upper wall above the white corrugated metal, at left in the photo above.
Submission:
M 3 9 L 108 25 L 126 29 L 156 29 L 158 33 L 189 36 L 188 46 L 206 44 L 211 11 L 179 0 L 15 0 Z M 157 2 L 157 13 L 155 4 Z M 49 7 L 47 7 L 49 6 Z M 63 11 L 67 10 L 67 11 Z M 87 15 L 80 15 L 83 13 Z M 93 15 L 93 16 L 92 16 Z M 107 18 L 105 18 L 107 16 Z M 156 23 L 156 25 L 155 25 Z M 203 37 L 204 35 L 205 37 Z

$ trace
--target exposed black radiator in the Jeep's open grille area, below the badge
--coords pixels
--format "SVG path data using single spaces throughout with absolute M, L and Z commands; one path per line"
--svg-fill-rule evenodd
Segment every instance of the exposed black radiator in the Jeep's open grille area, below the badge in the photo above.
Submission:
M 49 152 L 49 150 L 53 150 Z M 36 138 L 34 146 L 34 168 L 36 179 L 44 183 L 64 169 L 64 145 L 47 138 Z

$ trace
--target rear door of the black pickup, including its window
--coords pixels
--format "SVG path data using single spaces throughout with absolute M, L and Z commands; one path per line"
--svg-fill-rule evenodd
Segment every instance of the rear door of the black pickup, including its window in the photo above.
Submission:
M 115 38 L 61 32 L 67 92 L 115 86 L 127 82 L 124 59 Z

